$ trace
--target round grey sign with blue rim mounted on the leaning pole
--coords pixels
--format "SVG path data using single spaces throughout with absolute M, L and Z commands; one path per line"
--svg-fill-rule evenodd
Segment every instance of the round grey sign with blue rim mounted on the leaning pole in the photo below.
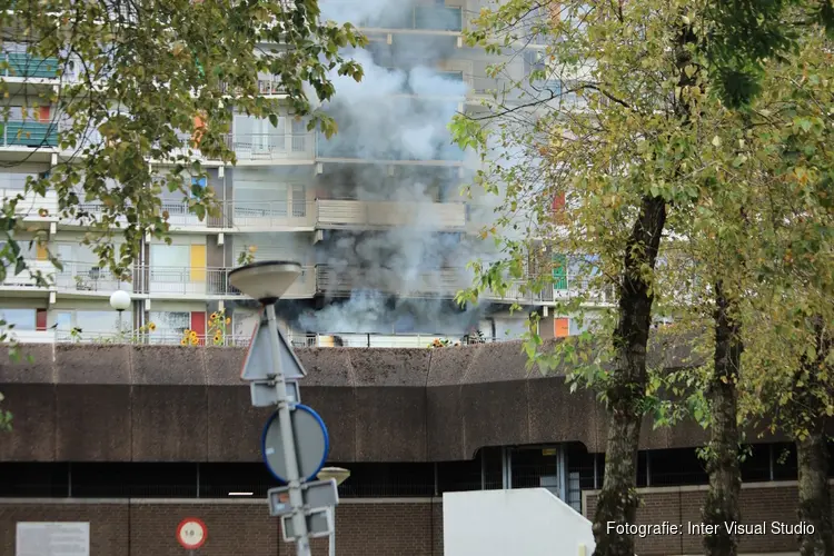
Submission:
M 301 480 L 312 480 L 327 461 L 330 451 L 330 438 L 321 417 L 311 408 L 296 405 L 289 413 L 292 433 L 296 440 L 298 475 Z M 278 411 L 274 413 L 264 427 L 260 439 L 264 463 L 275 478 L 287 483 L 287 464 L 284 456 L 284 435 L 281 434 Z

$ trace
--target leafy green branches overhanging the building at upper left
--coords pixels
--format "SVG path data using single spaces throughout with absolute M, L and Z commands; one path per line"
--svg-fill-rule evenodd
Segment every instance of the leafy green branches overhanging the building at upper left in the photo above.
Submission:
M 21 101 L 11 80 L 0 79 L 7 119 L 11 106 L 52 106 L 60 150 L 48 177 L 30 179 L 3 206 L 3 267 L 16 272 L 24 264 L 13 247 L 23 231 L 14 209 L 27 193 L 54 191 L 60 216 L 86 224 L 102 266 L 121 275 L 146 235 L 168 238 L 161 191 L 181 192 L 201 219 L 215 214 L 215 191 L 191 178 L 206 176 L 206 159 L 235 162 L 226 140 L 232 109 L 272 125 L 289 113 L 330 136 L 336 123 L 317 108 L 334 93 L 328 72 L 363 76 L 338 52 L 366 39 L 349 24 L 320 21 L 316 0 L 4 0 L 0 8 L 8 40 L 52 60 L 61 80 L 57 91 L 42 88 Z M 259 72 L 276 76 L 286 99 L 259 95 Z M 103 212 L 93 218 L 85 202 L 101 202 Z M 113 228 L 123 238 L 118 249 Z

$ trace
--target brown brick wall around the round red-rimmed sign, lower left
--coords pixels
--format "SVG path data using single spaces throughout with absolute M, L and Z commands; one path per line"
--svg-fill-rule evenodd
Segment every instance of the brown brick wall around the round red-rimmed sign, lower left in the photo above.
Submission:
M 197 556 L 289 556 L 279 520 L 249 500 L 3 500 L 0 555 L 14 554 L 17 522 L 89 522 L 91 556 L 183 556 L 175 538 L 186 517 L 202 519 L 208 539 Z M 441 556 L 439 500 L 342 500 L 336 512 L 339 556 Z M 327 539 L 312 540 L 314 556 Z

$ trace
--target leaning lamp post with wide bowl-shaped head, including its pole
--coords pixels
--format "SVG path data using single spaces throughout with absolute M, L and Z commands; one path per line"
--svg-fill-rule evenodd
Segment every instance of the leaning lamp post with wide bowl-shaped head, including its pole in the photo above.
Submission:
M 257 299 L 264 306 L 269 327 L 269 342 L 272 353 L 275 388 L 278 399 L 278 423 L 281 429 L 284 457 L 287 466 L 287 486 L 289 503 L 292 506 L 292 528 L 298 536 L 296 543 L 298 556 L 310 556 L 310 542 L 307 533 L 307 518 L 304 513 L 301 478 L 298 473 L 296 439 L 290 420 L 287 383 L 280 360 L 278 322 L 275 316 L 275 304 L 301 275 L 301 265 L 284 260 L 265 260 L 252 262 L 229 272 L 229 284 L 244 295 Z

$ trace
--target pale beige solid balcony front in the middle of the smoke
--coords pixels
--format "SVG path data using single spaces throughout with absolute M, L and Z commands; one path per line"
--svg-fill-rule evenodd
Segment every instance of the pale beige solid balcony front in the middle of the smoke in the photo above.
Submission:
M 316 201 L 319 228 L 385 228 L 408 226 L 426 229 L 463 230 L 466 205 L 461 202 L 399 202 L 329 200 Z

